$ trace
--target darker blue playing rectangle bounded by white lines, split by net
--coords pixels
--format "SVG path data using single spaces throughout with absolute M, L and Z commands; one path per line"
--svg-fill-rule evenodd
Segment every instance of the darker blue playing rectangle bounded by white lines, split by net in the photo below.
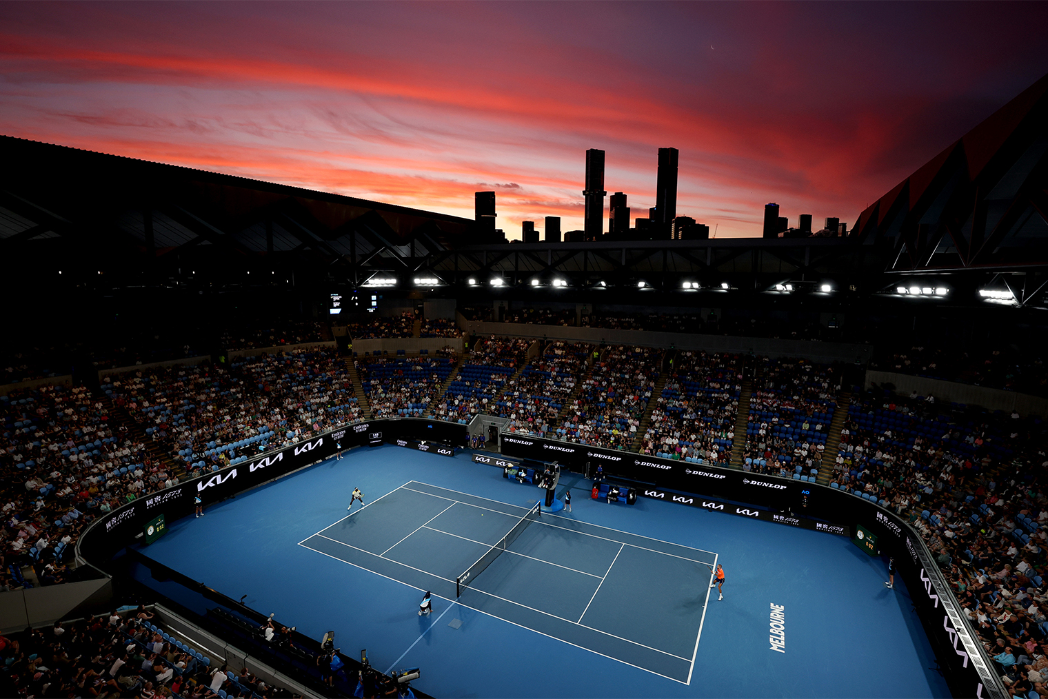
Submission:
M 410 481 L 300 545 L 455 602 L 456 578 L 528 511 Z M 712 551 L 543 515 L 458 605 L 686 684 L 716 562 Z

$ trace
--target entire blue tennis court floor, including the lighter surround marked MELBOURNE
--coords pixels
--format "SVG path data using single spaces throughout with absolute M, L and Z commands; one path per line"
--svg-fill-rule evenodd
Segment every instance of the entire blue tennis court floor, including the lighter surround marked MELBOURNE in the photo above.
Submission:
M 380 671 L 421 668 L 414 684 L 432 696 L 948 695 L 904 586 L 888 590 L 883 561 L 848 539 L 647 498 L 609 505 L 574 474 L 558 488 L 574 511 L 543 514 L 456 599 L 455 578 L 542 493 L 471 456 L 353 450 L 172 522 L 141 550 L 312 638 L 334 630 Z M 349 515 L 354 487 L 368 505 Z M 433 614 L 418 616 L 424 590 Z M 769 605 L 785 609 L 785 652 L 769 648 Z

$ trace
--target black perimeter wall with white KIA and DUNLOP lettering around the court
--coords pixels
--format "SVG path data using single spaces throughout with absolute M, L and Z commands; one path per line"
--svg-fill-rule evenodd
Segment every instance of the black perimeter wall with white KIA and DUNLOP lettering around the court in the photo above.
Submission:
M 146 525 L 157 516 L 162 514 L 168 522 L 188 517 L 194 511 L 197 494 L 205 505 L 212 504 L 330 458 L 336 440 L 344 447 L 396 439 L 463 445 L 465 437 L 466 425 L 419 418 L 370 420 L 339 428 L 236 466 L 206 473 L 99 517 L 77 542 L 77 558 L 81 563 L 105 569 L 114 555 L 143 539 Z M 712 510 L 722 508 L 717 502 L 687 502 L 694 500 L 689 495 L 750 503 L 755 508 L 779 514 L 772 521 L 780 524 L 803 526 L 802 519 L 814 520 L 830 523 L 831 526 L 823 528 L 833 533 L 840 532 L 833 531 L 832 524 L 846 525 L 852 531 L 861 525 L 878 537 L 880 551 L 895 559 L 898 575 L 911 592 L 914 608 L 954 696 L 1007 697 L 932 553 L 909 523 L 891 510 L 844 490 L 732 468 L 516 434 L 503 435 L 502 444 L 503 454 L 508 457 L 558 461 L 580 473 L 585 473 L 587 464 L 595 467 L 599 463 L 609 476 L 636 484 L 641 495 L 652 498 Z M 687 495 L 673 497 L 679 494 Z M 757 516 L 748 508 L 739 514 Z

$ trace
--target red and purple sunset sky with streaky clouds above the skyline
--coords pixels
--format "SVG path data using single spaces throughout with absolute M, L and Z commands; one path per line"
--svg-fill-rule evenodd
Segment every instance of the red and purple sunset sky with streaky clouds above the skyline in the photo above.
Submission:
M 849 225 L 1048 72 L 1046 3 L 0 3 L 0 133 L 473 217 Z M 606 202 L 607 205 L 607 202 Z M 605 224 L 607 228 L 607 222 Z

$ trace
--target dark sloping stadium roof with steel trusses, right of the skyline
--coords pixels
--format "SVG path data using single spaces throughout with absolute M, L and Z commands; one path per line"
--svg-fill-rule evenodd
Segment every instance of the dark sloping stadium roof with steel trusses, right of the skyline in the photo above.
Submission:
M 1048 75 L 861 213 L 851 237 L 889 272 L 1048 266 Z

